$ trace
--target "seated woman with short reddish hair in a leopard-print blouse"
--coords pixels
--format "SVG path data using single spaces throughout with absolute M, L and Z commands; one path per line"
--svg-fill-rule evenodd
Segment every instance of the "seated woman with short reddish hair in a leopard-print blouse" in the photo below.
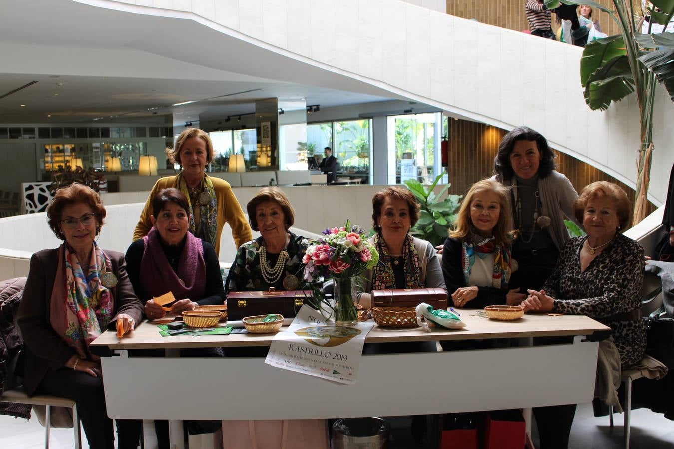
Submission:
M 529 290 L 530 296 L 522 305 L 532 312 L 587 315 L 610 326 L 619 356 L 615 374 L 619 374 L 618 367 L 636 364 L 646 347 L 639 296 L 644 250 L 621 234 L 630 223 L 630 200 L 619 186 L 592 182 L 580 193 L 574 209 L 587 235 L 573 238 L 564 246 L 543 289 Z M 575 411 L 576 406 L 561 407 Z M 561 407 L 542 407 L 534 413 L 539 430 L 541 425 L 563 429 L 568 440 L 573 413 L 563 411 L 565 419 L 560 419 L 557 412 Z M 559 441 L 559 435 L 553 434 L 553 441 Z

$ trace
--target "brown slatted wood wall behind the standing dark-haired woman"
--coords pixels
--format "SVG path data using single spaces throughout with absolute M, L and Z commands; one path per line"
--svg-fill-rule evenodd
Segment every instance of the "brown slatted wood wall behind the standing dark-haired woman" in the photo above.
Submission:
M 463 195 L 476 180 L 492 176 L 494 157 L 505 131 L 483 123 L 468 120 L 449 119 L 450 143 L 447 168 L 452 186 L 450 193 Z M 573 156 L 555 151 L 557 154 L 557 171 L 565 174 L 580 192 L 581 189 L 594 181 L 615 182 L 627 193 L 630 201 L 634 199 L 634 189 L 619 180 L 582 162 Z M 656 207 L 648 203 L 646 213 L 651 213 Z

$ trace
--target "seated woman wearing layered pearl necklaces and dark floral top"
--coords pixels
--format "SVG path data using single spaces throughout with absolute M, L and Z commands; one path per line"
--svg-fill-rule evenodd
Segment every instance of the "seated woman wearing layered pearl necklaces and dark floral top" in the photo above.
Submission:
M 278 187 L 263 187 L 246 205 L 251 228 L 260 236 L 243 244 L 227 278 L 228 290 L 295 290 L 309 240 L 289 231 L 295 211 Z

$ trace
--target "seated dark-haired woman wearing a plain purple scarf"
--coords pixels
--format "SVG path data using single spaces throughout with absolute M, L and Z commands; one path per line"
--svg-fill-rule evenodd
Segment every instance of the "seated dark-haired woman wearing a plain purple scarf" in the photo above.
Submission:
M 152 229 L 129 246 L 127 271 L 133 289 L 154 320 L 166 311 L 152 298 L 171 291 L 180 314 L 195 306 L 224 304 L 220 263 L 213 246 L 187 232 L 189 201 L 177 188 L 163 188 L 152 199 Z

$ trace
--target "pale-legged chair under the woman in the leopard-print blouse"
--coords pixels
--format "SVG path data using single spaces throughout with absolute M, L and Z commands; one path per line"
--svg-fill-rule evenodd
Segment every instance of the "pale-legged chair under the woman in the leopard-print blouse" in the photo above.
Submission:
M 663 304 L 663 287 L 660 278 L 653 273 L 644 273 L 644 283 L 641 287 L 641 314 L 649 316 L 656 312 Z M 632 408 L 632 381 L 644 377 L 640 371 L 620 371 L 620 382 L 625 384 L 625 407 L 623 417 L 623 438 L 625 449 L 630 448 L 630 409 Z M 609 426 L 613 429 L 613 406 L 609 405 Z

